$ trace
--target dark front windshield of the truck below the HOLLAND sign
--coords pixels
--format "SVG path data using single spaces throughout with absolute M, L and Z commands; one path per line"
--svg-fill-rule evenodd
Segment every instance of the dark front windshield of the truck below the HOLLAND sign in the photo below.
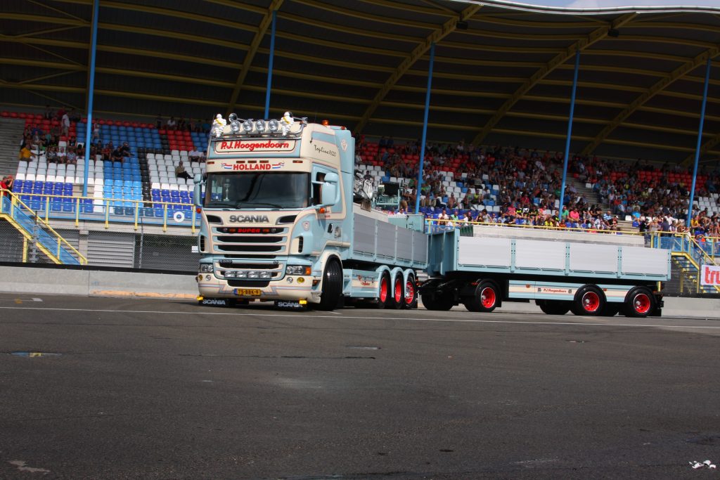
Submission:
M 208 173 L 205 207 L 305 208 L 309 184 L 307 173 Z

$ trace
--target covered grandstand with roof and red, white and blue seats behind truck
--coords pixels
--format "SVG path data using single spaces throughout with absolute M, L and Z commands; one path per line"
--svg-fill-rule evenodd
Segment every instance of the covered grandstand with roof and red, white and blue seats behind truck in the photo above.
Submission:
M 264 100 L 270 100 L 264 98 L 270 55 L 275 57 L 271 116 L 292 109 L 311 120 L 346 124 L 372 139 L 359 142 L 359 170 L 369 171 L 377 183 L 405 178 L 411 184 L 419 149 L 393 159 L 393 148 L 382 146 L 382 139 L 392 135 L 394 149 L 400 150 L 397 145 L 419 137 L 431 45 L 437 55 L 428 141 L 465 148 L 453 155 L 426 155 L 426 179 L 433 185 L 421 195 L 447 204 L 479 190 L 482 202 L 463 204 L 459 213 L 469 210 L 475 216 L 487 209 L 495 219 L 525 196 L 534 207 L 560 217 L 563 204 L 570 209 L 577 204 L 613 209 L 621 221 L 634 213 L 679 219 L 692 178 L 688 167 L 696 150 L 703 71 L 720 51 L 720 11 L 712 8 L 580 12 L 444 0 L 201 2 L 192 12 L 182 5 L 100 1 L 99 41 L 91 50 L 92 2 L 55 3 L 53 9 L 21 1 L 6 6 L 7 34 L 0 41 L 9 48 L 3 58 L 0 138 L 12 145 L 22 140 L 13 129 L 22 132 L 35 124 L 43 131 L 56 129 L 60 119 L 41 114 L 48 102 L 51 109 L 85 111 L 90 56 L 96 60 L 96 128 L 85 119 L 71 122 L 58 148 L 67 148 L 72 137 L 79 148 L 87 148 L 90 127 L 93 145 L 128 142 L 130 156 L 122 163 L 103 161 L 102 149 L 91 152 L 91 146 L 87 150 L 95 160 L 85 166 L 48 163 L 48 156 L 35 150 L 37 158 L 18 166 L 14 155 L 3 152 L 0 166 L 2 173 L 16 176 L 13 190 L 27 209 L 71 236 L 96 228 L 103 233 L 155 228 L 165 235 L 192 236 L 197 221 L 190 205 L 192 181 L 177 178 L 174 170 L 183 160 L 190 176 L 202 173 L 202 163 L 187 160 L 191 152 L 207 148 L 207 129 L 199 127 L 203 121 L 183 117 L 210 119 L 231 111 L 262 117 Z M 278 41 L 271 51 L 273 19 Z M 42 28 L 28 31 L 29 22 Z M 559 199 L 557 167 L 562 162 L 555 152 L 565 139 L 572 58 L 578 52 L 571 195 Z M 711 170 L 720 153 L 720 117 L 714 111 L 719 85 L 709 84 L 698 152 L 701 165 L 710 167 L 698 176 L 695 192 L 698 207 L 707 208 L 703 218 L 718 210 L 718 177 Z M 169 117 L 177 123 L 168 124 Z M 489 145 L 525 149 L 519 149 L 521 155 L 496 155 L 502 165 L 488 160 L 488 168 L 481 169 L 472 145 L 485 145 L 482 155 L 498 150 Z M 528 192 L 528 184 L 537 183 L 534 150 L 552 152 L 552 158 L 541 158 L 549 173 L 539 182 L 546 194 L 542 188 Z M 602 166 L 595 163 L 598 157 Z M 649 167 L 634 168 L 638 158 Z M 577 168 L 579 162 L 585 171 Z M 665 163 L 681 166 L 675 171 Z M 514 174 L 525 178 L 508 177 Z M 627 188 L 628 182 L 633 188 Z M 640 198 L 639 189 L 652 195 Z M 674 202 L 667 212 L 661 196 Z M 633 209 L 636 202 L 640 208 Z M 421 208 L 436 214 L 433 207 Z M 84 241 L 83 235 L 73 240 L 77 246 Z M 87 248 L 80 250 L 87 253 Z

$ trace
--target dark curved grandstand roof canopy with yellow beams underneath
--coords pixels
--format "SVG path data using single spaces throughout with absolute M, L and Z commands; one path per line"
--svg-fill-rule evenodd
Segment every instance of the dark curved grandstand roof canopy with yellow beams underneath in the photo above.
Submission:
M 95 115 L 271 116 L 285 110 L 369 136 L 562 150 L 575 52 L 571 150 L 692 158 L 720 9 L 553 9 L 503 1 L 101 0 Z M 84 110 L 91 0 L 3 0 L 0 104 Z M 716 65 L 716 63 L 715 63 Z M 712 72 L 703 158 L 720 154 Z M 711 76 L 711 77 L 712 77 Z

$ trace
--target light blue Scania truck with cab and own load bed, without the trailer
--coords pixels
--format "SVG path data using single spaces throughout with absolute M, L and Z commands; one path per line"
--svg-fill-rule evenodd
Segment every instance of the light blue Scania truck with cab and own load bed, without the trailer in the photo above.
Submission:
M 354 204 L 351 133 L 287 116 L 229 120 L 196 178 L 199 301 L 415 307 L 428 237 Z

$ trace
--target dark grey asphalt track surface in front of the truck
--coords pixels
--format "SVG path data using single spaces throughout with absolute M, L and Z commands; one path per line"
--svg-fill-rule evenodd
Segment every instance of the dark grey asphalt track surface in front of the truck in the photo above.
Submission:
M 0 478 L 717 478 L 719 371 L 714 320 L 6 294 Z

